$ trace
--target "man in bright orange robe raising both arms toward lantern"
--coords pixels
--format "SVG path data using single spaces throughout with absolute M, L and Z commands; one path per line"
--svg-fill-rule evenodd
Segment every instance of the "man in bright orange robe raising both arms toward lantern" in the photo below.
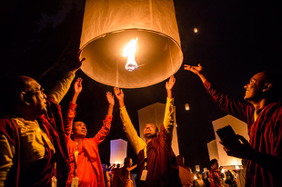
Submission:
M 105 140 L 107 134 L 110 132 L 115 100 L 113 94 L 110 92 L 106 93 L 109 107 L 106 119 L 103 121 L 103 126 L 96 133 L 95 137 L 86 138 L 86 124 L 76 122 L 73 125 L 76 116 L 76 99 L 82 91 L 81 83 L 82 79 L 78 78 L 74 86 L 75 94 L 68 105 L 65 119 L 66 146 L 70 162 L 70 172 L 68 173 L 66 186 L 71 186 L 74 178 L 78 178 L 79 187 L 105 187 L 98 145 Z

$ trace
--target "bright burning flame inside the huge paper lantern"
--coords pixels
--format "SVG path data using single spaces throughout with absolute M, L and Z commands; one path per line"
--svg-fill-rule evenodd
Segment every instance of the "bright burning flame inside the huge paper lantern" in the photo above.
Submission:
M 138 37 L 136 39 L 130 40 L 126 44 L 126 47 L 124 48 L 124 54 L 123 56 L 127 56 L 127 63 L 126 63 L 126 70 L 132 72 L 133 70 L 136 70 L 138 65 L 136 64 L 136 44 L 137 44 Z

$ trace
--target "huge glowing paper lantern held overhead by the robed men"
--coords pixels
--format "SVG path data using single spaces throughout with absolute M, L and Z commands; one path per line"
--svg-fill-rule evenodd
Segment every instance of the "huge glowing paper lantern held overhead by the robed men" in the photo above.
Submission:
M 124 57 L 132 40 L 135 54 Z M 173 0 L 86 0 L 80 48 L 81 69 L 101 84 L 139 88 L 166 80 L 183 62 Z

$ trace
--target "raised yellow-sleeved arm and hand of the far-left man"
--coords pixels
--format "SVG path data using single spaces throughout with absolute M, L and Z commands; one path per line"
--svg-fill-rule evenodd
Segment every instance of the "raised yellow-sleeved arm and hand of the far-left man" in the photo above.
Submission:
M 86 60 L 86 58 L 79 60 L 81 52 L 81 50 L 78 52 L 76 57 L 76 63 L 71 68 L 71 71 L 67 72 L 65 76 L 59 81 L 59 83 L 57 83 L 55 87 L 51 90 L 51 92 L 48 94 L 48 97 L 52 98 L 57 104 L 60 103 L 64 98 L 70 85 L 72 84 L 72 81 L 76 76 L 76 71 L 80 69 L 81 65 Z

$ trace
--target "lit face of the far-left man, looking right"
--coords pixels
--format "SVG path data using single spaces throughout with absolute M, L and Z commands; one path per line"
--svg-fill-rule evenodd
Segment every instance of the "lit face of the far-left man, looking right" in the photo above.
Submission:
M 41 115 L 47 111 L 44 90 L 34 79 L 30 78 L 30 81 L 26 83 L 25 94 L 26 101 L 30 103 L 30 106 L 36 114 Z

